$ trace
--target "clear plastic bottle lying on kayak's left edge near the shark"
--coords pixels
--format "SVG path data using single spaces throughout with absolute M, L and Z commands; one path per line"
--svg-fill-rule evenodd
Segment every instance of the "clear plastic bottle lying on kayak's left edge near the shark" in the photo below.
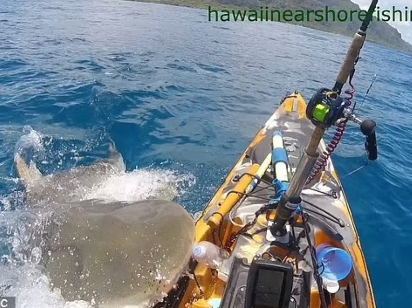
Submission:
M 223 248 L 207 241 L 197 243 L 192 250 L 193 258 L 210 268 L 219 268 L 229 254 Z

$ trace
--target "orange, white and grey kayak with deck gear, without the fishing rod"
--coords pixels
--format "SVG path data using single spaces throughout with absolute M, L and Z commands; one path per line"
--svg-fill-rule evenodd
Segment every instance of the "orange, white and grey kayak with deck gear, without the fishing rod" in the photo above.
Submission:
M 227 251 L 229 257 L 226 256 L 216 268 L 199 262 L 192 264 L 193 279 L 187 282 L 179 307 L 247 307 L 245 299 L 253 298 L 253 292 L 261 294 L 259 290 L 265 289 L 265 283 L 270 284 L 268 290 L 287 289 L 287 284 L 282 287 L 285 284 L 282 279 L 276 282 L 278 285 L 273 281 L 277 273 L 275 269 L 270 275 L 271 282 L 262 278 L 261 286 L 249 290 L 247 277 L 251 264 L 259 259 L 289 266 L 293 289 L 289 287 L 283 291 L 283 295 L 288 294 L 284 299 L 278 298 L 282 294 L 267 296 L 269 302 L 277 298 L 280 302 L 286 301 L 288 306 L 261 303 L 261 306 L 250 307 L 321 307 L 319 290 L 311 275 L 315 271 L 329 283 L 323 281 L 328 307 L 375 307 L 353 216 L 330 158 L 304 186 L 301 204 L 289 220 L 290 235 L 274 238 L 270 234 L 274 208 L 265 208 L 265 205 L 276 200 L 277 189 L 283 188 L 279 178 L 287 183 L 296 171 L 302 150 L 313 131 L 301 94 L 294 92 L 286 96 L 197 218 L 195 242 L 213 243 Z M 318 151 L 322 153 L 325 148 L 322 140 Z M 283 150 L 286 157 L 278 154 L 278 150 Z M 259 211 L 262 208 L 265 210 Z M 250 228 L 246 230 L 245 226 Z M 315 247 L 318 258 L 322 252 L 319 247 L 323 252 L 332 248 L 329 257 L 325 258 L 329 259 L 323 261 L 326 264 L 311 261 L 310 245 Z M 337 268 L 330 264 L 336 261 L 333 258 L 340 263 Z M 331 277 L 331 271 L 343 271 L 345 260 L 349 260 L 346 276 L 328 280 L 326 274 Z

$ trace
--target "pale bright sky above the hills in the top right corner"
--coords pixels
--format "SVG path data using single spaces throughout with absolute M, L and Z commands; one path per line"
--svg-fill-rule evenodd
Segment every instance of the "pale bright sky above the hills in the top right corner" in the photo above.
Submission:
M 351 0 L 352 2 L 358 4 L 361 9 L 367 9 L 371 0 Z M 412 10 L 412 1 L 411 0 L 379 0 L 378 6 L 380 7 L 380 11 L 384 9 L 391 9 L 395 6 L 396 9 L 405 10 L 405 6 L 408 7 L 409 10 Z M 400 21 L 400 20 L 392 20 L 389 24 L 395 27 L 401 34 L 402 38 L 412 44 L 412 21 Z

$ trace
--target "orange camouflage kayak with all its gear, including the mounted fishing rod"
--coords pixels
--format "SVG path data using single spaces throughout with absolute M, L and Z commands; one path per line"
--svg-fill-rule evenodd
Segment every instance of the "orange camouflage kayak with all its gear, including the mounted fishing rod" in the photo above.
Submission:
M 354 122 L 368 159 L 378 157 L 376 123 L 358 118 L 353 85 L 377 4 L 372 0 L 333 87 L 307 102 L 299 92 L 285 96 L 240 156 L 196 219 L 187 275 L 156 308 L 376 307 L 331 155 Z

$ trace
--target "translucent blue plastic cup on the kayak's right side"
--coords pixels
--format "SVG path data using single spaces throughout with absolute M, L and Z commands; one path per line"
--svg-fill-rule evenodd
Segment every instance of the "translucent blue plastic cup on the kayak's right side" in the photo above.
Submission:
M 319 274 L 328 280 L 341 281 L 348 277 L 352 270 L 352 258 L 344 249 L 328 244 L 316 247 L 316 259 Z

